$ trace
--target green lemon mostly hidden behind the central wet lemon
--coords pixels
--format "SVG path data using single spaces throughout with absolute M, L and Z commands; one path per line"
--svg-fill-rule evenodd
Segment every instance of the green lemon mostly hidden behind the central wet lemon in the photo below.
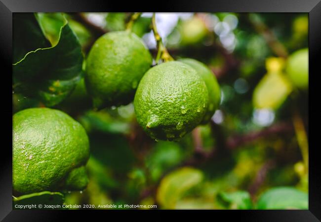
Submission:
M 208 108 L 203 117 L 202 124 L 208 123 L 211 117 L 214 115 L 215 110 L 218 108 L 221 101 L 221 90 L 217 83 L 216 77 L 213 72 L 203 63 L 194 59 L 180 59 L 182 63 L 186 63 L 194 68 L 197 73 L 204 80 L 208 91 Z

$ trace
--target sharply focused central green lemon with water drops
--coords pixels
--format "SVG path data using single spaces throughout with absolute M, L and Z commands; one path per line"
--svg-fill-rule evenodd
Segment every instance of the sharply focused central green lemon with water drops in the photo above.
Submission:
M 201 123 L 208 92 L 196 70 L 172 61 L 156 65 L 140 81 L 134 107 L 137 121 L 154 139 L 179 140 Z

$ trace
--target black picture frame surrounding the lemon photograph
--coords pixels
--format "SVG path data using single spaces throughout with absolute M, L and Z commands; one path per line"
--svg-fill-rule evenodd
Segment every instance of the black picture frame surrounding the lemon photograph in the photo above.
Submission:
M 167 12 L 307 12 L 309 13 L 309 129 L 320 128 L 319 95 L 317 76 L 320 75 L 318 58 L 321 54 L 321 0 L 171 0 L 156 2 L 157 7 L 150 3 L 137 1 L 116 2 L 110 0 L 0 0 L 0 57 L 2 78 L 11 79 L 12 73 L 12 13 L 14 12 L 101 12 L 101 11 L 167 11 Z M 280 21 L 281 22 L 281 21 Z M 3 69 L 4 68 L 4 69 Z M 317 72 L 318 70 L 318 72 Z M 311 81 L 312 80 L 312 81 Z M 3 97 L 8 105 L 0 110 L 4 135 L 2 141 L 12 145 L 10 124 L 12 126 L 12 96 L 10 84 L 3 81 Z M 319 86 L 320 87 L 320 86 Z M 313 97 L 316 97 L 313 99 Z M 317 101 L 317 102 L 316 102 Z M 312 121 L 310 121 L 312 120 Z M 250 210 L 250 211 L 206 211 L 216 217 L 225 219 L 237 217 L 245 221 L 302 221 L 314 222 L 321 220 L 321 177 L 318 155 L 318 139 L 309 130 L 309 210 Z M 317 132 L 318 133 L 318 132 Z M 2 143 L 3 144 L 3 143 Z M 46 210 L 12 210 L 12 150 L 2 145 L 0 160 L 0 220 L 3 221 L 58 221 L 66 214 L 78 215 L 83 211 L 46 211 Z M 67 213 L 68 212 L 68 213 Z M 92 211 L 87 211 L 92 213 Z M 108 211 L 110 212 L 110 211 Z M 161 211 L 159 211 L 161 212 Z M 106 213 L 106 211 L 94 211 Z M 184 214 L 189 214 L 190 212 Z M 121 214 L 120 214 L 121 215 Z M 124 214 L 122 214 L 124 215 Z M 125 216 L 125 215 L 124 215 Z M 98 219 L 99 216 L 97 216 Z M 91 217 L 96 218 L 96 217 Z M 106 218 L 107 219 L 107 218 Z

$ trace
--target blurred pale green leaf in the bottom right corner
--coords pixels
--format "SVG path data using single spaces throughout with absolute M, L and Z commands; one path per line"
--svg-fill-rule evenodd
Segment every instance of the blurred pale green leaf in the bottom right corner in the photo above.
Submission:
M 308 193 L 291 187 L 278 187 L 264 192 L 257 209 L 308 209 Z

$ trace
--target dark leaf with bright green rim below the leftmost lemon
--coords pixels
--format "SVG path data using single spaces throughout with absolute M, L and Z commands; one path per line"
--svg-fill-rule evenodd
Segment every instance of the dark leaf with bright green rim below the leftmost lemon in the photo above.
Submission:
M 42 205 L 62 205 L 64 203 L 64 195 L 60 192 L 50 192 L 50 191 L 42 191 L 38 193 L 26 194 L 19 197 L 13 197 L 13 208 L 18 208 L 16 205 L 32 205 L 36 204 L 35 207 L 40 209 L 39 204 Z M 22 208 L 23 209 L 23 208 Z

